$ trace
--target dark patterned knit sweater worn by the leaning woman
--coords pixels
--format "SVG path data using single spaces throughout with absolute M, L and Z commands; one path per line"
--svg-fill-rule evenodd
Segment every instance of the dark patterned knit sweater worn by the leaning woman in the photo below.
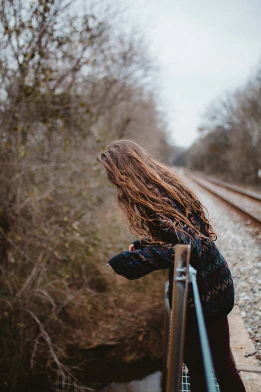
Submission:
M 184 212 L 183 207 L 176 200 L 171 199 L 171 201 L 179 212 Z M 192 215 L 193 221 L 206 235 L 200 217 L 193 212 Z M 157 236 L 166 242 L 164 246 L 148 246 L 146 241 L 136 240 L 133 242 L 134 251 L 123 251 L 112 257 L 108 264 L 117 274 L 127 279 L 138 279 L 154 270 L 169 268 L 168 298 L 171 308 L 175 244 L 189 244 L 190 265 L 197 271 L 196 280 L 204 315 L 228 314 L 234 305 L 234 287 L 226 261 L 212 239 L 200 239 L 184 222 L 181 222 L 181 225 L 183 230 L 190 234 L 192 240 L 187 234 L 183 235 L 178 231 L 176 233 L 172 227 L 166 229 L 166 225 L 163 224 Z M 194 311 L 192 285 L 189 284 L 187 312 L 194 313 Z

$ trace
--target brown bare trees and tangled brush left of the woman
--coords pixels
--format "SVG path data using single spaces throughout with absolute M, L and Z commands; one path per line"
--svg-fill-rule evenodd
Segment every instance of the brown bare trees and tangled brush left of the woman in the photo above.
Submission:
M 91 335 L 84 315 L 108 285 L 99 266 L 128 241 L 96 156 L 119 138 L 162 159 L 168 151 L 153 61 L 140 35 L 117 28 L 116 7 L 0 0 L 0 380 L 9 391 L 37 374 L 51 390 L 77 388 L 67 343 L 83 328 L 79 313 Z

